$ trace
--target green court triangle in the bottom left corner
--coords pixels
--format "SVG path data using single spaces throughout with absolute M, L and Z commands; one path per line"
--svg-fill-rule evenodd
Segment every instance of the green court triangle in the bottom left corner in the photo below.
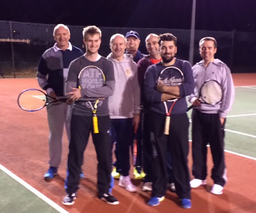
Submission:
M 0 170 L 1 213 L 56 213 L 56 209 Z

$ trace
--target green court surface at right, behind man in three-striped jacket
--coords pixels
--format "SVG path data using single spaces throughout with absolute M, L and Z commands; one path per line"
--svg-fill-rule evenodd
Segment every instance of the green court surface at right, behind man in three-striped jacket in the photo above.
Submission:
M 189 118 L 191 118 L 191 112 L 192 110 L 188 112 Z M 231 111 L 228 112 L 225 127 L 225 149 L 256 158 L 255 120 L 256 86 L 236 87 L 235 101 Z M 189 138 L 191 139 L 191 125 Z

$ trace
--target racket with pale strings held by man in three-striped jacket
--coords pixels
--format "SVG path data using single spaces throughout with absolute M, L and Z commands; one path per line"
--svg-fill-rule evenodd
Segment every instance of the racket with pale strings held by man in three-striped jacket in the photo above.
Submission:
M 223 93 L 218 81 L 209 79 L 204 82 L 199 91 L 199 101 L 203 104 L 216 105 L 222 100 Z M 188 107 L 187 111 L 194 106 Z

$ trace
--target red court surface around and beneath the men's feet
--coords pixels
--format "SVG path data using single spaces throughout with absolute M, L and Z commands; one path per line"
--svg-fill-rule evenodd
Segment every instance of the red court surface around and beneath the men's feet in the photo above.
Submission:
M 234 74 L 233 78 L 236 86 L 256 85 L 255 73 Z M 150 193 L 141 191 L 142 182 L 134 179 L 132 182 L 138 186 L 137 193 L 125 191 L 118 186 L 118 182 L 115 180 L 113 195 L 119 200 L 120 204 L 108 205 L 96 197 L 97 160 L 91 140 L 84 153 L 82 168 L 86 178 L 81 181 L 78 199 L 72 206 L 63 206 L 61 201 L 65 196 L 63 184 L 66 177 L 68 141 L 64 136 L 63 159 L 59 175 L 51 182 L 44 181 L 43 176 L 48 169 L 47 163 L 49 160 L 46 109 L 28 113 L 18 107 L 17 96 L 27 88 L 38 88 L 36 79 L 0 79 L 0 90 L 2 91 L 0 162 L 68 212 L 256 212 L 256 161 L 230 153 L 225 153 L 228 184 L 224 188 L 224 193 L 222 195 L 209 193 L 213 181 L 208 176 L 206 186 L 192 189 L 191 209 L 181 209 L 177 195 L 172 192 L 167 192 L 166 199 L 159 206 L 148 206 Z M 212 160 L 210 155 L 208 156 L 208 173 L 211 174 Z M 191 153 L 189 153 L 188 159 L 191 168 Z

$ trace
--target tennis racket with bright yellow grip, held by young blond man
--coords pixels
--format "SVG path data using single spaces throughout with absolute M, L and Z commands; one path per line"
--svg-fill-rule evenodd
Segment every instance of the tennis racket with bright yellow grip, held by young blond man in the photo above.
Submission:
M 78 74 L 78 88 L 79 89 L 93 89 L 103 87 L 105 85 L 105 75 L 96 66 L 87 66 L 84 67 Z M 93 132 L 99 133 L 98 118 L 97 118 L 97 107 L 100 99 L 96 99 L 94 102 L 88 101 L 87 103 L 92 110 L 92 123 L 93 123 Z

